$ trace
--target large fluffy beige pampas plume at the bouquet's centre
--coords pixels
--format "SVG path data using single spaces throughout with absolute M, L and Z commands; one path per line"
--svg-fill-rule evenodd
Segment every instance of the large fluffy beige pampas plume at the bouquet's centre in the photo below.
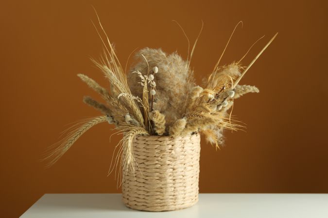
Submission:
M 193 72 L 189 69 L 188 62 L 177 53 L 168 55 L 161 49 L 152 48 L 141 49 L 136 57 L 139 62 L 131 72 L 139 71 L 147 75 L 153 67 L 158 67 L 154 79 L 156 82 L 154 110 L 163 113 L 166 126 L 171 126 L 175 120 L 183 117 L 187 106 L 186 96 L 195 86 Z M 132 93 L 141 97 L 142 86 L 138 84 L 138 75 L 129 73 L 127 77 Z

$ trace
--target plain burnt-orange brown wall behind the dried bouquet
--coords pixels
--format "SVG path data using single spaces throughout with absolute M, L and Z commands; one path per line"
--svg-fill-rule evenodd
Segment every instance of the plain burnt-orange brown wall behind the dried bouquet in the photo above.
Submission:
M 247 133 L 226 133 L 215 152 L 202 142 L 201 192 L 328 192 L 327 1 L 11 1 L 0 12 L 1 217 L 17 217 L 44 193 L 120 192 L 106 176 L 113 147 L 109 125 L 87 132 L 51 169 L 38 161 L 67 124 L 98 112 L 82 102 L 93 95 L 77 77 L 106 85 L 89 61 L 102 45 L 91 25 L 97 9 L 125 63 L 136 47 L 177 50 L 204 31 L 192 66 L 207 75 L 235 24 L 242 20 L 222 63 L 249 63 L 265 43 L 275 42 L 243 78 L 259 94 L 238 99 L 233 114 Z

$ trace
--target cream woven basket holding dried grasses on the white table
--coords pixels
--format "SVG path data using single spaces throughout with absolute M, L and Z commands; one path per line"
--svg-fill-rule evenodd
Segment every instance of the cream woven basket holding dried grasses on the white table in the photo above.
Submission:
M 179 210 L 198 201 L 200 136 L 137 136 L 135 173 L 124 175 L 122 200 L 144 211 Z

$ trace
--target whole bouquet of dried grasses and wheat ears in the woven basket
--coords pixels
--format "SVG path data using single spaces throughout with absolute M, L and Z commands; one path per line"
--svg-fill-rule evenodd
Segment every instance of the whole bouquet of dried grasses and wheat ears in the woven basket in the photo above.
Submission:
M 201 133 L 210 144 L 220 148 L 224 143 L 223 130 L 241 127 L 231 119 L 234 100 L 246 93 L 259 92 L 257 87 L 239 82 L 277 35 L 246 67 L 241 63 L 243 57 L 238 62 L 220 66 L 223 52 L 213 72 L 200 86 L 190 68 L 199 35 L 190 52 L 188 49 L 187 60 L 176 52 L 167 54 L 161 49 L 143 48 L 136 54 L 137 64 L 126 73 L 126 67 L 125 70 L 122 68 L 100 21 L 99 24 L 101 32 L 96 30 L 104 44 L 104 52 L 100 60 L 92 61 L 110 85 L 106 89 L 86 75 L 78 74 L 78 77 L 104 99 L 104 103 L 89 96 L 83 99 L 103 115 L 74 125 L 64 139 L 52 145 L 44 158 L 48 160 L 48 166 L 63 156 L 88 129 L 103 122 L 114 125 L 117 133 L 123 135 L 116 146 L 114 163 L 116 167 L 121 164 L 123 173 L 129 168 L 134 170 L 133 140 L 137 135 L 183 137 Z

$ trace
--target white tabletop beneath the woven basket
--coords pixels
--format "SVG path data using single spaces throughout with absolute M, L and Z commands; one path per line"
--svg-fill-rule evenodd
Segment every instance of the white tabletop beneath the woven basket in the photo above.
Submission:
M 132 210 L 121 194 L 45 194 L 21 218 L 328 218 L 328 194 L 200 194 L 187 209 Z

